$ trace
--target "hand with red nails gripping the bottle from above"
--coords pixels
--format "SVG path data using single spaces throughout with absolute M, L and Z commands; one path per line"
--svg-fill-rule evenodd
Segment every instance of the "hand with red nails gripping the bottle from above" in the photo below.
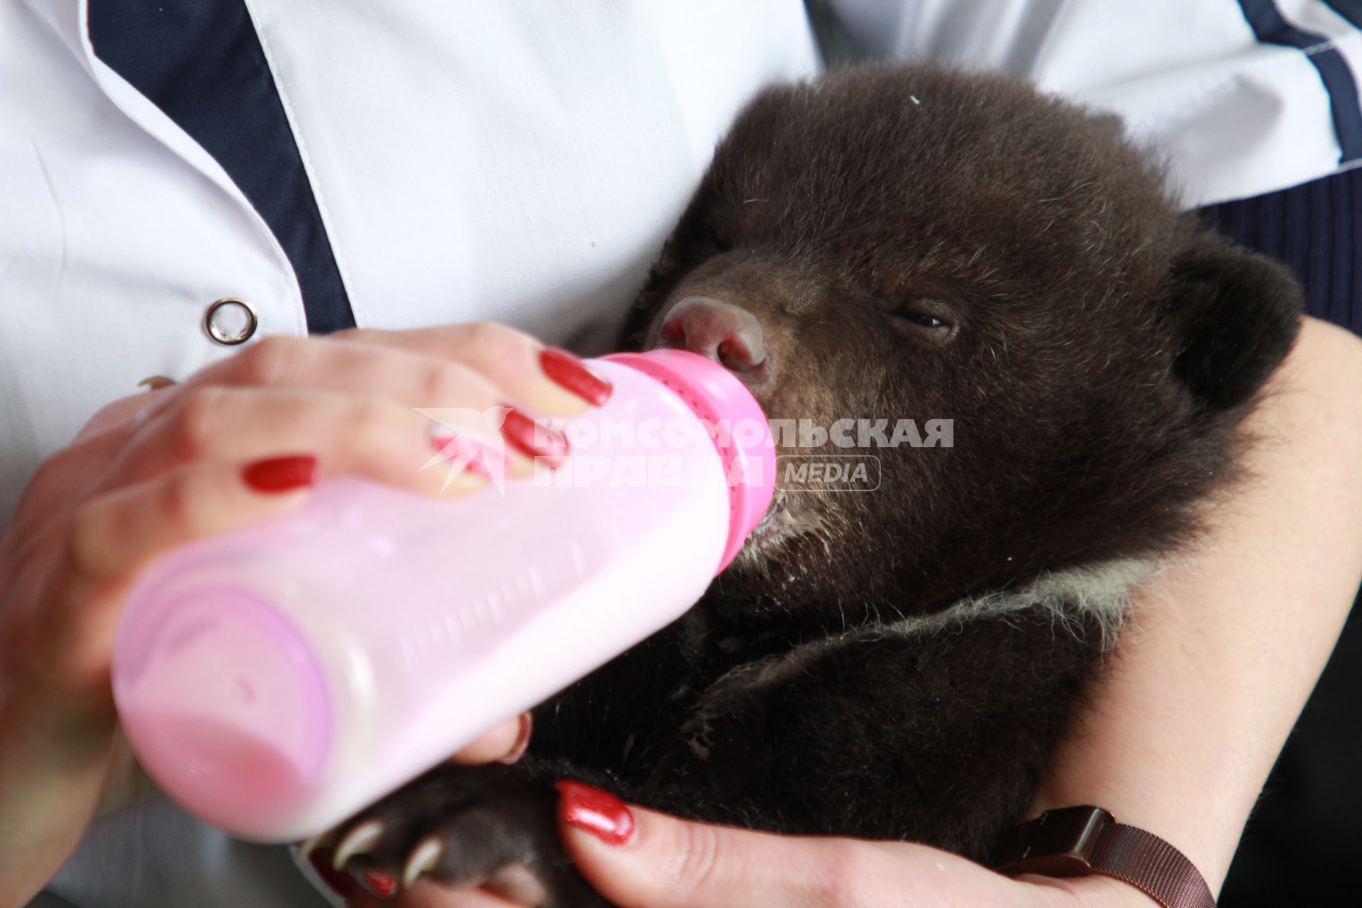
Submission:
M 441 433 L 413 407 L 569 415 L 605 393 L 571 355 L 471 324 L 267 338 L 91 418 L 39 466 L 0 536 L 0 905 L 25 903 L 97 810 L 138 788 L 109 656 L 151 560 L 289 512 L 319 478 L 449 497 L 479 489 L 473 471 L 422 470 Z M 512 475 L 553 453 L 527 425 L 503 429 Z

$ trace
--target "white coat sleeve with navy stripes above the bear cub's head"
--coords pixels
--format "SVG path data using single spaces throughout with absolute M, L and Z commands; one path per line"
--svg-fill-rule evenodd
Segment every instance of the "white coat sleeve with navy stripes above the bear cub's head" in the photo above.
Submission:
M 1120 113 L 1133 139 L 1167 157 L 1188 207 L 1348 166 L 1312 57 L 1336 53 L 1362 82 L 1362 33 L 1321 0 L 1275 3 L 1284 26 L 1312 35 L 1305 49 L 1258 41 L 1237 0 L 835 3 L 880 56 L 1001 69 Z M 1358 121 L 1355 99 L 1343 113 Z

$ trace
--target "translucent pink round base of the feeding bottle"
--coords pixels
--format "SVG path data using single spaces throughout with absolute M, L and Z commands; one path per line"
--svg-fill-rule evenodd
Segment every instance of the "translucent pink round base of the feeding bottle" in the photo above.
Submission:
M 199 818 L 253 837 L 311 792 L 331 741 L 326 681 L 252 594 L 197 588 L 120 629 L 113 690 L 148 775 Z

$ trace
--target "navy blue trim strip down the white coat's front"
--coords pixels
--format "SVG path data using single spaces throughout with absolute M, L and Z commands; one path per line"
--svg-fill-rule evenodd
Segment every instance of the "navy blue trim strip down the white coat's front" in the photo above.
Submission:
M 289 256 L 308 331 L 354 327 L 312 184 L 242 0 L 91 0 L 114 72 L 212 155 Z

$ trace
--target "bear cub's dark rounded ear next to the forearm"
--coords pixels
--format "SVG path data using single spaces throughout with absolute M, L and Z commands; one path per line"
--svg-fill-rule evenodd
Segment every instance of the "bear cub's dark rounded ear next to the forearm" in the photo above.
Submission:
M 1209 231 L 1178 256 L 1173 278 L 1174 372 L 1203 407 L 1246 403 L 1295 343 L 1301 285 L 1286 267 Z

